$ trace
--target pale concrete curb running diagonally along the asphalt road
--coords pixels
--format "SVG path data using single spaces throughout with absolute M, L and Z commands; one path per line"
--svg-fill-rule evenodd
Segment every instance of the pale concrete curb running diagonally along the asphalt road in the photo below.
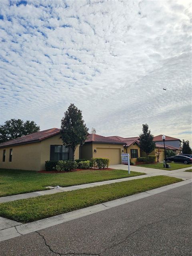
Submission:
M 103 210 L 107 210 L 107 209 L 110 209 L 112 207 L 116 207 L 116 206 L 119 206 L 122 204 L 133 202 L 133 201 L 136 201 L 136 200 L 148 197 L 148 196 L 152 196 L 154 194 L 164 192 L 166 190 L 170 190 L 172 188 L 176 188 L 179 186 L 189 184 L 191 182 L 192 182 L 192 179 L 184 180 L 184 181 L 181 181 L 178 183 L 170 184 L 170 185 L 163 186 L 160 188 L 155 188 L 155 189 L 148 190 L 146 192 L 142 192 L 142 193 L 135 194 L 132 196 L 127 196 L 124 198 L 112 200 L 112 201 L 105 202 L 102 204 L 97 204 L 97 205 L 83 208 L 80 210 L 76 210 L 73 212 L 68 212 L 65 214 L 60 214 L 60 215 L 46 218 L 43 220 L 38 220 L 38 221 L 30 222 L 27 224 L 17 225 L 17 226 L 11 227 L 11 228 L 0 230 L 0 241 L 8 240 L 10 238 L 14 238 L 16 236 L 21 236 L 24 234 L 29 234 L 34 231 L 38 231 L 38 230 L 41 230 L 44 228 L 55 226 L 57 224 L 68 222 L 70 220 L 81 218 L 81 217 L 84 217 L 84 216 L 87 216 L 87 215 L 90 215 L 90 214 L 93 214 L 96 212 L 100 212 Z

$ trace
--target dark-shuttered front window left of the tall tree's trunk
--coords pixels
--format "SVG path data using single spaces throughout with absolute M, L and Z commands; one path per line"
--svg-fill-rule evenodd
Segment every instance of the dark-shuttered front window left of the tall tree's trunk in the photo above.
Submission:
M 69 146 L 50 145 L 50 160 L 71 160 L 72 150 Z

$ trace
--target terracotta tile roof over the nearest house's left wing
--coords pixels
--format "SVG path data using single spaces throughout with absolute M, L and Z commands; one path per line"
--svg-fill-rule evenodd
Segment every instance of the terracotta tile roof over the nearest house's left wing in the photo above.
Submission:
M 40 132 L 34 132 L 32 134 L 28 134 L 14 140 L 9 140 L 9 141 L 0 143 L 0 148 L 6 147 L 6 146 L 12 146 L 12 145 L 16 146 L 19 144 L 28 144 L 32 142 L 38 142 L 59 133 L 60 133 L 60 129 L 58 128 L 52 128 L 52 129 L 48 129 Z

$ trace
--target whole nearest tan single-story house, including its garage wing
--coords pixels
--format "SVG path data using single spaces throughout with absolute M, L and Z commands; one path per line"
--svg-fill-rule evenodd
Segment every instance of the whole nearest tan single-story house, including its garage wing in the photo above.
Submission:
M 121 163 L 124 142 L 89 134 L 84 145 L 75 150 L 75 159 L 109 158 L 110 164 Z M 70 160 L 72 150 L 63 146 L 60 129 L 35 132 L 0 144 L 0 168 L 44 170 L 47 160 Z

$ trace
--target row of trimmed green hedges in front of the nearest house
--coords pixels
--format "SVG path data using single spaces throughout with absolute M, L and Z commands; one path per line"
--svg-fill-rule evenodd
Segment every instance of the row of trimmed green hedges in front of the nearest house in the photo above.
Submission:
M 52 171 L 69 171 L 72 169 L 89 169 L 89 168 L 106 168 L 109 165 L 108 158 L 92 158 L 91 160 L 87 159 L 77 159 L 74 162 L 72 160 L 59 160 L 59 161 L 46 161 L 45 162 L 45 170 Z

